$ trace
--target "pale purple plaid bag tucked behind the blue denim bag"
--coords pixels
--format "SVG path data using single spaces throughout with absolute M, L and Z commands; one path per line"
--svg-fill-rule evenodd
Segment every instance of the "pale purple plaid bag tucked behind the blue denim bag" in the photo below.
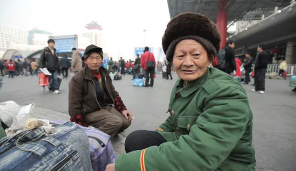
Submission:
M 63 124 L 65 121 L 52 120 L 50 123 Z M 106 166 L 115 163 L 115 152 L 110 140 L 110 136 L 94 127 L 80 126 L 86 133 L 89 140 L 89 156 L 93 171 L 105 171 Z

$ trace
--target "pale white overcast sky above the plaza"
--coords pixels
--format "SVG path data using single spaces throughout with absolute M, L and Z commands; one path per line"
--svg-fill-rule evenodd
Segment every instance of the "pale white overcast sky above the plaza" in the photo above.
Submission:
M 133 59 L 134 47 L 144 47 L 144 29 L 145 45 L 157 53 L 170 16 L 167 0 L 0 0 L 5 27 L 79 35 L 91 21 L 103 28 L 104 53 Z

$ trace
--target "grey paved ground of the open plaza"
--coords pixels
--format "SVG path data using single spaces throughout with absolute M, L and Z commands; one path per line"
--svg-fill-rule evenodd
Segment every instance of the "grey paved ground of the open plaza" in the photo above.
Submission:
M 124 153 L 125 137 L 135 130 L 154 130 L 167 117 L 168 100 L 176 80 L 157 74 L 153 88 L 131 86 L 131 76 L 113 81 L 124 103 L 135 118 L 132 125 L 113 141 L 116 154 Z M 25 105 L 36 103 L 34 116 L 44 119 L 68 120 L 68 83 L 64 79 L 61 94 L 42 92 L 37 77 L 4 78 L 0 102 L 13 100 Z M 253 142 L 258 171 L 296 171 L 296 93 L 291 92 L 288 80 L 266 79 L 266 93 L 261 95 L 244 86 L 254 115 Z

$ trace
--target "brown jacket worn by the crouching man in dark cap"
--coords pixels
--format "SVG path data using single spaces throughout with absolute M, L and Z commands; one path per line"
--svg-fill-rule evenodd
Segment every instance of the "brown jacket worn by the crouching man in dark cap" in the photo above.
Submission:
M 115 91 L 109 71 L 106 68 L 101 67 L 100 73 L 102 79 L 104 79 L 105 86 L 107 87 L 107 90 L 105 91 L 111 96 L 113 102 L 111 105 L 114 105 L 119 112 L 126 110 L 118 92 Z M 97 98 L 99 99 L 103 97 L 97 97 L 93 77 L 94 76 L 91 74 L 90 70 L 85 66 L 74 75 L 69 83 L 69 114 L 71 116 L 71 121 L 73 122 L 78 115 L 80 115 L 79 118 L 83 118 L 86 114 L 101 109 L 101 104 L 98 102 Z

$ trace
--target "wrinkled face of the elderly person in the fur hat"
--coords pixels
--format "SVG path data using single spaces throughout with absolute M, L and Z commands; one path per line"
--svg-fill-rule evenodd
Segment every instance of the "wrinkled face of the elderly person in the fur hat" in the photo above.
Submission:
M 199 42 L 191 39 L 180 41 L 173 57 L 173 66 L 185 82 L 200 78 L 210 65 L 208 53 Z

